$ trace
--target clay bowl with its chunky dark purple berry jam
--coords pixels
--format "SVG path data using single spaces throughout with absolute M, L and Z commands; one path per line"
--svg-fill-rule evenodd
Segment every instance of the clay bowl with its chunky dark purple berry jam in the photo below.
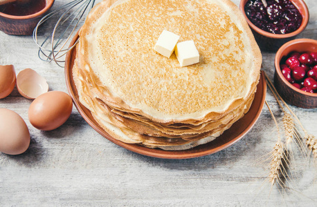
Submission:
M 309 21 L 303 0 L 241 0 L 239 7 L 264 51 L 277 51 L 305 30 Z

